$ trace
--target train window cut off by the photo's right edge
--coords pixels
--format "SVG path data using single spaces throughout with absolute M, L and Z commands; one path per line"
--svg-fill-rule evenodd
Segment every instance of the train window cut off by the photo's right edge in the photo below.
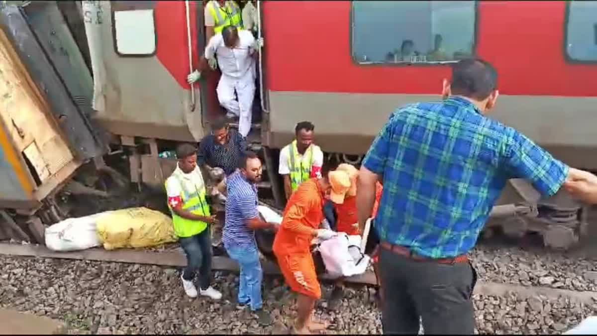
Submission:
M 578 62 L 597 62 L 597 1 L 568 2 L 566 54 Z

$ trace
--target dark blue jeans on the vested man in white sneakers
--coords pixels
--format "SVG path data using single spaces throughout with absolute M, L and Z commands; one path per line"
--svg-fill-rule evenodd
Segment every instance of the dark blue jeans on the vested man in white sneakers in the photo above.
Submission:
M 183 270 L 183 279 L 192 281 L 199 270 L 199 287 L 207 289 L 211 283 L 211 237 L 210 227 L 199 234 L 181 237 L 180 246 L 187 257 L 187 266 Z

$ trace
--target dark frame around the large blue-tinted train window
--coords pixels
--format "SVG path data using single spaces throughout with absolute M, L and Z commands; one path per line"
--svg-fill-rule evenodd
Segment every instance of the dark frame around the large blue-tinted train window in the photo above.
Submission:
M 398 63 L 389 63 L 389 62 L 359 62 L 356 59 L 354 50 L 354 41 L 355 41 L 355 1 L 362 1 L 362 0 L 351 0 L 350 1 L 350 18 L 349 18 L 349 48 L 350 48 L 350 59 L 352 63 L 356 66 L 417 66 L 417 67 L 429 67 L 429 66 L 450 66 L 453 63 L 457 63 L 458 60 L 448 60 L 448 61 L 432 61 L 432 62 L 398 62 Z M 473 7 L 473 11 L 475 13 L 475 19 L 473 22 L 473 46 L 471 50 L 471 56 L 475 57 L 477 55 L 477 47 L 479 42 L 479 1 L 474 0 L 475 3 Z

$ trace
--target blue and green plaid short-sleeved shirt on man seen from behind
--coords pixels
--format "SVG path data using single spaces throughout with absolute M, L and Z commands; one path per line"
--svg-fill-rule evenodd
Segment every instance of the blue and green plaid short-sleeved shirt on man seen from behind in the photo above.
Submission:
M 461 97 L 396 110 L 363 165 L 383 176 L 380 240 L 431 258 L 475 246 L 507 179 L 527 179 L 549 197 L 568 175 L 564 163 Z

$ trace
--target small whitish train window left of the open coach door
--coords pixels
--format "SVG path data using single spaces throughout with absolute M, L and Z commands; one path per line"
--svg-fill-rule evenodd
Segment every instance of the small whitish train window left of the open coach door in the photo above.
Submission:
M 153 10 L 114 11 L 116 53 L 121 56 L 155 54 L 156 34 Z

